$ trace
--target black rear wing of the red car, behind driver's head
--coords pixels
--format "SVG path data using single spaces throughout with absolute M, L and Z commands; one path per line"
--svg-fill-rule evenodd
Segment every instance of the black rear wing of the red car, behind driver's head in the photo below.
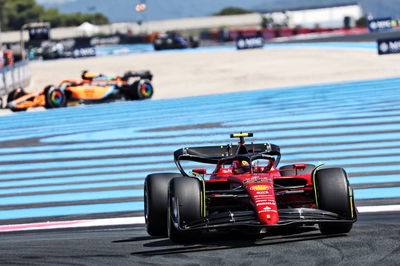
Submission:
M 278 165 L 281 158 L 280 148 L 278 145 L 271 143 L 244 144 L 248 153 L 266 154 L 277 156 L 275 165 Z M 175 164 L 182 174 L 186 175 L 180 161 L 194 161 L 200 163 L 217 164 L 219 160 L 233 156 L 236 154 L 238 145 L 220 145 L 220 146 L 203 146 L 203 147 L 186 147 L 178 149 L 174 152 Z

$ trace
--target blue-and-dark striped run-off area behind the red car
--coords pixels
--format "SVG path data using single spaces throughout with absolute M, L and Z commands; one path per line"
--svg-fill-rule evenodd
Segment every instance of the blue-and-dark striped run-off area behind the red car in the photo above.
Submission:
M 281 146 L 280 165 L 344 167 L 356 204 L 400 204 L 400 79 L 117 102 L 0 118 L 0 224 L 143 215 L 147 174 L 229 133 Z

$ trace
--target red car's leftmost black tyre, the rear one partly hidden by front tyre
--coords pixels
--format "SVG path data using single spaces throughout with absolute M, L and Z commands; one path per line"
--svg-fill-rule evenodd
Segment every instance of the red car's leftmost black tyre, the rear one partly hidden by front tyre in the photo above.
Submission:
M 178 173 L 150 174 L 144 182 L 144 217 L 147 233 L 167 236 L 168 185 Z

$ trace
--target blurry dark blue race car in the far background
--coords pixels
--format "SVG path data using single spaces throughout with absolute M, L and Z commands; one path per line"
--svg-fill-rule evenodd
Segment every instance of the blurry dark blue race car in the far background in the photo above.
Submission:
M 193 37 L 186 39 L 181 35 L 170 32 L 158 36 L 153 42 L 154 50 L 185 49 L 199 47 L 199 41 Z

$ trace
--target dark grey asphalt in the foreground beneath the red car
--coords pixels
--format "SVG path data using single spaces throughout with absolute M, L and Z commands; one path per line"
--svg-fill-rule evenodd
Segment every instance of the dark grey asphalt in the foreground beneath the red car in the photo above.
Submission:
M 400 213 L 361 215 L 348 235 L 314 227 L 177 245 L 143 226 L 3 233 L 1 265 L 399 265 Z

